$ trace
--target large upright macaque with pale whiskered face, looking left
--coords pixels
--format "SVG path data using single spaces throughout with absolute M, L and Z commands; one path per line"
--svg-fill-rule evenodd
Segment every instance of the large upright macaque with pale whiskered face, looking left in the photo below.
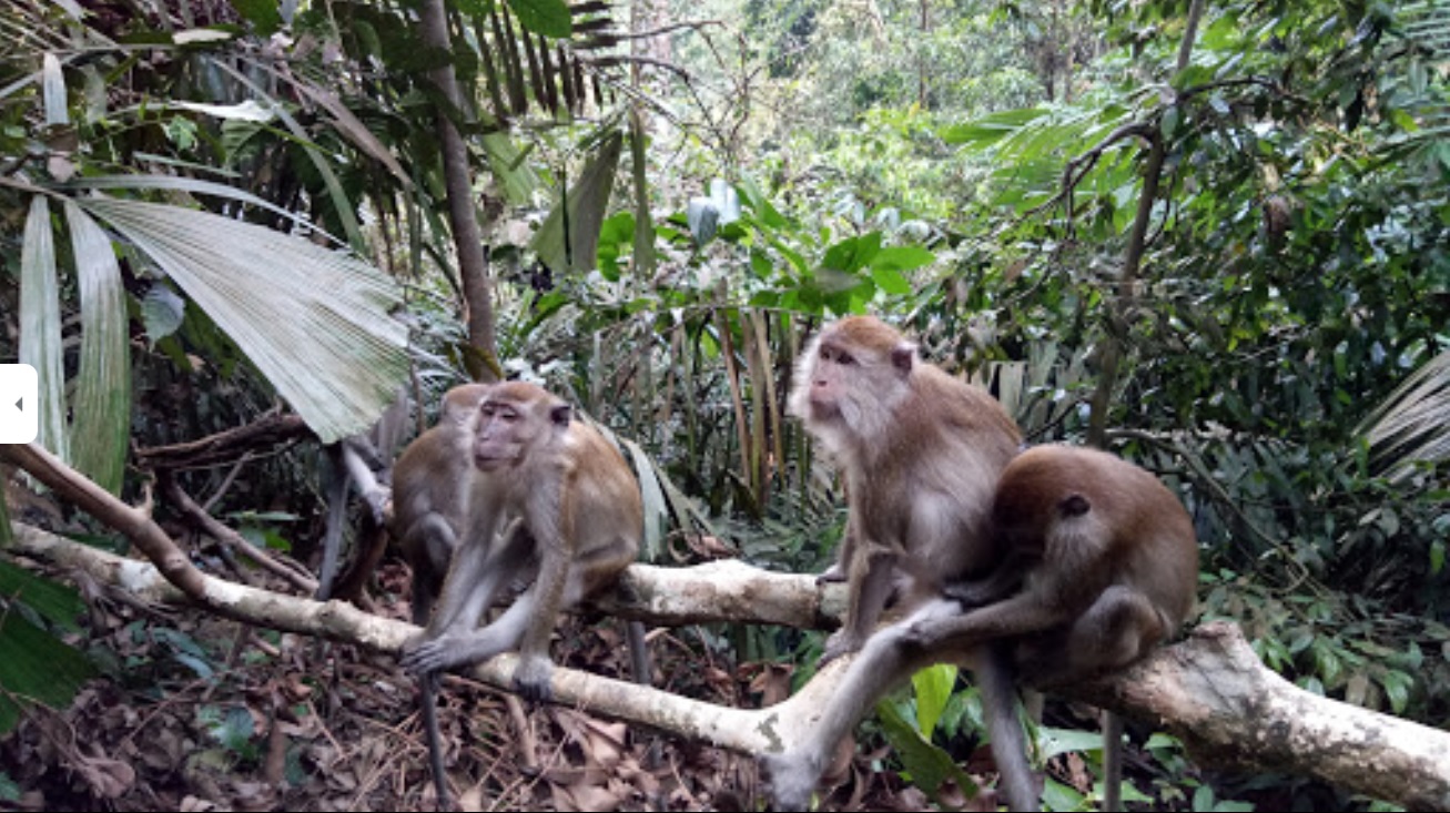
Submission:
M 848 609 L 822 662 L 861 648 L 893 587 L 906 610 L 953 581 L 998 567 L 992 494 L 1021 433 L 992 396 L 922 362 L 916 345 L 895 328 L 851 316 L 826 325 L 806 346 L 789 407 L 847 483 L 841 558 L 825 578 L 844 570 Z M 1035 791 L 1006 664 L 993 648 L 974 655 L 1002 784 L 1009 799 L 1025 803 Z M 826 754 L 869 707 L 837 704 L 850 720 L 834 729 L 829 743 L 799 759 L 766 761 L 777 799 L 789 800 L 782 809 L 802 809 Z

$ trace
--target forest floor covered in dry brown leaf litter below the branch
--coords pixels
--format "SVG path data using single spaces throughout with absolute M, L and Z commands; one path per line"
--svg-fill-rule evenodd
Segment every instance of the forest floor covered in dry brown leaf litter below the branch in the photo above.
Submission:
M 406 568 L 378 594 L 406 593 Z M 19 803 L 0 810 L 435 810 L 415 681 L 394 658 L 246 628 L 202 612 L 138 604 L 81 584 L 103 662 L 65 710 L 32 710 L 0 741 Z M 405 619 L 406 601 L 376 612 Z M 650 636 L 658 688 L 729 706 L 789 693 L 789 667 L 734 665 L 693 628 Z M 624 628 L 576 617 L 558 662 L 628 674 Z M 450 785 L 464 810 L 760 810 L 754 761 L 563 706 L 528 706 L 450 675 L 439 693 Z M 882 770 L 842 754 L 840 810 L 922 809 Z M 873 768 L 874 767 L 874 768 Z M 0 777 L 3 778 L 3 777 Z M 990 796 L 967 809 L 993 809 Z

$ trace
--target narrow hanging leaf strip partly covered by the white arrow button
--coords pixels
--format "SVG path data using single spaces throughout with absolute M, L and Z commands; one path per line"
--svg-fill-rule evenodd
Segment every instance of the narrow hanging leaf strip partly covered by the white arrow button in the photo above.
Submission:
M 20 364 L 35 368 L 39 384 L 41 432 L 36 442 L 70 461 L 65 430 L 65 368 L 61 355 L 61 288 L 55 274 L 51 204 L 30 199 L 20 248 Z

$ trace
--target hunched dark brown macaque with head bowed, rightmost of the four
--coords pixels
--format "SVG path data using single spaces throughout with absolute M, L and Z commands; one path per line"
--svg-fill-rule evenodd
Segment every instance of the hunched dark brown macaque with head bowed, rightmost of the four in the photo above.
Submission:
M 840 738 L 919 668 L 993 648 L 1025 685 L 1070 685 L 1143 658 L 1193 609 L 1198 542 L 1188 512 L 1156 477 L 1114 455 L 1022 452 L 1002 472 L 992 522 L 1008 545 L 1002 565 L 877 632 L 809 736 L 767 758 L 779 809 L 799 809 Z M 1114 759 L 1121 735 L 1105 745 Z M 1105 785 L 1106 807 L 1116 809 L 1111 771 Z M 1012 810 L 1038 807 L 1035 790 L 1016 793 L 1008 788 Z

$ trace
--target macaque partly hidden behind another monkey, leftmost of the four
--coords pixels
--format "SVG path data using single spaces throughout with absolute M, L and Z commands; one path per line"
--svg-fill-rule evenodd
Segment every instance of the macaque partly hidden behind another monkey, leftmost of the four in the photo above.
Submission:
M 412 616 L 423 626 L 448 562 L 464 535 L 473 481 L 473 432 L 489 384 L 460 384 L 444 394 L 438 422 L 393 464 L 389 532 L 413 572 Z

